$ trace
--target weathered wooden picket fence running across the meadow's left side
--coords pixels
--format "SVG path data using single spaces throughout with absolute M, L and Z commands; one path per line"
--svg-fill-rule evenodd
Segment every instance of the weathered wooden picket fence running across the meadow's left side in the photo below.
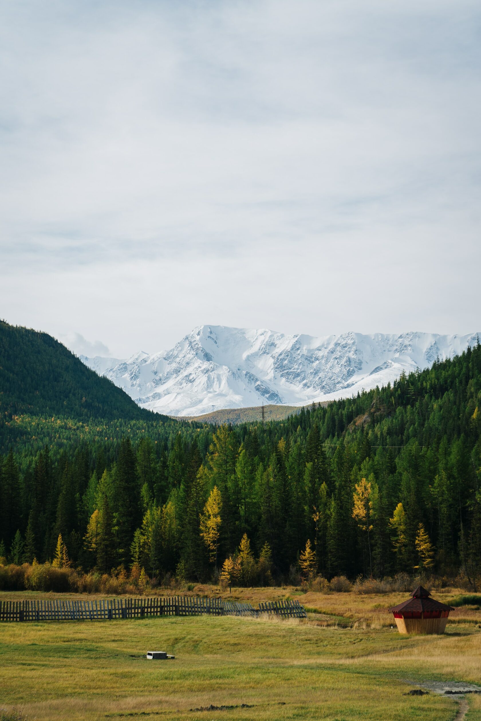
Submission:
M 251 603 L 193 596 L 109 598 L 100 601 L 69 601 L 63 598 L 0 601 L 0 621 L 110 621 L 144 616 L 257 616 L 259 613 L 277 614 L 284 618 L 306 617 L 299 601 L 259 603 L 259 609 L 254 609 Z

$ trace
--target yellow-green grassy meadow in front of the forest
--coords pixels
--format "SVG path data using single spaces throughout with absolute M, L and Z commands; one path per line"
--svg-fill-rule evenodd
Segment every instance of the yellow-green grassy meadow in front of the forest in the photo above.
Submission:
M 286 589 L 266 591 L 233 589 L 231 597 L 286 596 Z M 27 721 L 454 720 L 456 698 L 405 694 L 424 681 L 480 682 L 481 611 L 454 611 L 444 636 L 403 637 L 385 609 L 405 596 L 302 594 L 307 621 L 2 623 L 0 707 Z M 176 658 L 148 661 L 147 650 Z M 481 721 L 481 696 L 467 701 L 467 721 Z M 192 710 L 211 704 L 233 708 Z

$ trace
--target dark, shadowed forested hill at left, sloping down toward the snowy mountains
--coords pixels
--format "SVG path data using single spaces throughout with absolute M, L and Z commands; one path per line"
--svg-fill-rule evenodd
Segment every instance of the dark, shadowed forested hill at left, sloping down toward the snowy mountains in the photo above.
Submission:
M 163 420 L 84 366 L 48 333 L 0 321 L 0 412 L 87 420 Z

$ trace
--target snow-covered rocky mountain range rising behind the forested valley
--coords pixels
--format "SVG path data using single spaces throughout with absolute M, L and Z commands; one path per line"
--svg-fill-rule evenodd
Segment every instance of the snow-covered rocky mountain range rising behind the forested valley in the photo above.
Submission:
M 168 415 L 201 415 L 261 404 L 303 405 L 351 396 L 431 366 L 475 345 L 472 335 L 284 335 L 202 325 L 171 350 L 127 360 L 81 360 L 140 406 Z

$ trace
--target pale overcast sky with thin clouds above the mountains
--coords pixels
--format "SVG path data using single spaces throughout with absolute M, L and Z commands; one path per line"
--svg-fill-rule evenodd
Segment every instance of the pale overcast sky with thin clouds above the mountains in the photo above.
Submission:
M 479 0 L 0 8 L 0 317 L 480 329 Z

